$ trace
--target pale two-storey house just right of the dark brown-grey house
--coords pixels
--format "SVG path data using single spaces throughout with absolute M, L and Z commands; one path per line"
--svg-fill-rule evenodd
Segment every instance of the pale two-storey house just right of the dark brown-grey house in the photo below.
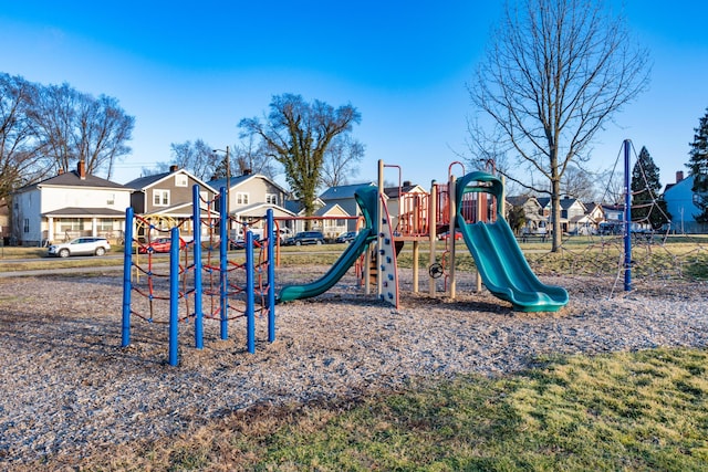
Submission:
M 253 230 L 266 227 L 263 216 L 269 209 L 273 210 L 273 217 L 277 218 L 295 216 L 285 207 L 288 191 L 261 174 L 247 171 L 238 177 L 211 180 L 209 186 L 219 192 L 228 188 L 229 214 L 237 221 L 248 223 Z M 285 227 L 290 228 L 288 224 Z

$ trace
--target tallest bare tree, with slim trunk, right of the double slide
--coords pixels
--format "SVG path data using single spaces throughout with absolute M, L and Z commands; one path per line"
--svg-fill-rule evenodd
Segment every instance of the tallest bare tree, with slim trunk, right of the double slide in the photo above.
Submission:
M 552 251 L 561 244 L 561 179 L 594 135 L 648 84 L 648 53 L 631 42 L 621 18 L 598 0 L 525 0 L 509 3 L 468 84 L 478 111 L 528 174 L 511 180 L 551 197 Z M 472 137 L 472 139 L 478 139 Z

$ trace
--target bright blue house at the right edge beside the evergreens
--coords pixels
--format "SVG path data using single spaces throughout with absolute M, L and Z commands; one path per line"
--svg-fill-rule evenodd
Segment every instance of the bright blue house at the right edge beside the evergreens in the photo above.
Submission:
M 667 183 L 664 190 L 666 209 L 671 216 L 670 231 L 677 233 L 706 233 L 708 224 L 696 221 L 700 214 L 698 195 L 694 193 L 694 176 L 684 178 L 684 172 L 676 172 L 676 183 Z

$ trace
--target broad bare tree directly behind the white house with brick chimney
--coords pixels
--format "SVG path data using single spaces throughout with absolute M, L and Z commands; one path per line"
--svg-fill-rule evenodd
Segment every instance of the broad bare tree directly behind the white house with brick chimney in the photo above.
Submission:
M 86 171 L 104 170 L 111 178 L 115 160 L 127 155 L 135 118 L 115 98 L 95 98 L 69 84 L 42 87 L 30 113 L 35 133 L 53 170 L 67 170 L 79 160 Z

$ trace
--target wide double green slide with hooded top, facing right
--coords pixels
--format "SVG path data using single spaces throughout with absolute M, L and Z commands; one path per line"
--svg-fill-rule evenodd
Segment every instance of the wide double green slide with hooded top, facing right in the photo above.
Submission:
M 470 182 L 482 185 L 470 187 Z M 458 180 L 456 188 L 456 224 L 487 290 L 498 298 L 511 302 L 513 310 L 520 312 L 556 312 L 565 306 L 568 292 L 539 281 L 501 213 L 497 214 L 493 223 L 465 221 L 460 210 L 462 197 L 469 192 L 492 193 L 497 201 L 501 201 L 503 187 L 490 174 L 471 172 Z

